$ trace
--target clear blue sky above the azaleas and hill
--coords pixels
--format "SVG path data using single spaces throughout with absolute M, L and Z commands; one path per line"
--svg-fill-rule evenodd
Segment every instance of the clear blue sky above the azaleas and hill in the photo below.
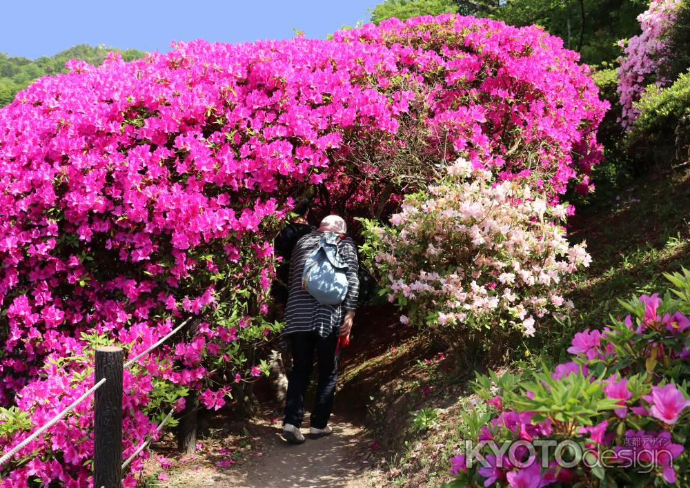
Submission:
M 35 59 L 75 44 L 166 51 L 170 41 L 322 39 L 382 0 L 23 0 L 3 2 L 0 52 Z

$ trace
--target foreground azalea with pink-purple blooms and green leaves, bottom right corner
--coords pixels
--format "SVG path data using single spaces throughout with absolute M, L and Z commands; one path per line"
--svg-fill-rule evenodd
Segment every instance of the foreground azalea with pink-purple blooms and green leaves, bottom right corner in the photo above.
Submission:
M 571 362 L 478 375 L 489 408 L 462 428 L 486 442 L 453 458 L 451 486 L 687 486 L 690 272 L 667 277 L 673 294 L 620 302 L 623 320 L 576 333 Z M 469 465 L 477 453 L 486 462 Z

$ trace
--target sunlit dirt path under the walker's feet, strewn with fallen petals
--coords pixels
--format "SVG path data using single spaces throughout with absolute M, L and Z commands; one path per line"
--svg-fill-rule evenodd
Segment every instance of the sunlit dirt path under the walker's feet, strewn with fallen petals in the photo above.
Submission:
M 364 309 L 359 320 L 369 325 L 382 321 L 370 318 L 369 313 Z M 383 320 L 388 315 L 386 311 Z M 363 424 L 368 398 L 366 389 L 360 383 L 348 386 L 351 371 L 361 367 L 370 356 L 381 355 L 388 348 L 391 338 L 385 333 L 387 329 L 374 329 L 355 336 L 353 347 L 343 351 L 339 386 L 344 388 L 336 393 L 335 413 L 328 422 L 333 427 L 331 436 L 307 437 L 302 445 L 290 445 L 282 438 L 281 419 L 271 419 L 272 414 L 268 410 L 251 420 L 228 420 L 217 416 L 209 426 L 212 428 L 207 429 L 207 434 L 200 439 L 195 455 L 181 456 L 177 453 L 172 433 L 157 443 L 155 453 L 167 458 L 172 465 L 165 470 L 162 479 L 157 478 L 160 469 L 150 469 L 146 486 L 371 488 L 384 485 L 368 469 L 371 467 L 370 448 L 374 439 Z M 268 408 L 268 405 L 264 407 Z M 308 418 L 302 432 L 305 435 L 308 432 Z M 158 466 L 157 462 L 151 461 L 152 466 Z

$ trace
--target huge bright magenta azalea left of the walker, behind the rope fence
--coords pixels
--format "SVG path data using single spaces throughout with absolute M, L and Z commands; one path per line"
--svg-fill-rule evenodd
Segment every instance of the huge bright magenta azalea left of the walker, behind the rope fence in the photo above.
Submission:
M 242 344 L 275 329 L 261 313 L 288 195 L 322 180 L 344 131 L 395 130 L 395 102 L 353 81 L 380 75 L 385 52 L 197 41 L 132 63 L 75 61 L 0 111 L 0 403 L 23 412 L 1 446 L 92 384 L 95 340 L 132 356 L 185 316 L 207 319 L 126 372 L 124 456 L 177 387 L 217 409 L 258 374 Z M 89 412 L 0 467 L 3 486 L 85 485 Z

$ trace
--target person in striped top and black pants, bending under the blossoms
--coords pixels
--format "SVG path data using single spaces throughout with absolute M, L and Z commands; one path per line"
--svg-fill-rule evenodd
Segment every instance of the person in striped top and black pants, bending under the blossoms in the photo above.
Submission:
M 318 302 L 304 289 L 302 282 L 306 260 L 328 233 L 337 235 L 337 253 L 347 264 L 347 293 L 342 303 L 336 305 Z M 304 393 L 313 369 L 315 352 L 319 380 L 309 432 L 314 438 L 333 431 L 328 425 L 328 419 L 333 409 L 339 344 L 341 341 L 348 341 L 350 337 L 359 293 L 358 267 L 355 242 L 347 237 L 345 221 L 337 215 L 324 218 L 316 231 L 297 242 L 293 251 L 284 329 L 293 355 L 283 422 L 283 433 L 289 442 L 304 442 L 299 427 L 304 420 Z

